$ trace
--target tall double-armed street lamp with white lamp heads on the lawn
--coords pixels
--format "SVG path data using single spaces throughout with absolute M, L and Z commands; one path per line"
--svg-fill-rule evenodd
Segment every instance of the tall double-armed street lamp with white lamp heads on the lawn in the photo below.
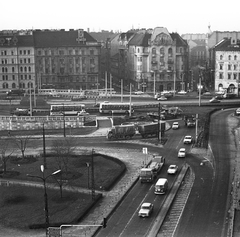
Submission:
M 45 203 L 45 228 L 46 228 L 46 236 L 48 236 L 49 216 L 48 216 L 48 198 L 47 198 L 46 180 L 49 177 L 58 174 L 59 172 L 61 172 L 61 170 L 57 170 L 57 171 L 53 172 L 52 174 L 48 175 L 47 177 L 45 177 L 44 165 L 41 165 L 41 171 L 42 171 L 42 174 L 43 174 L 42 177 L 41 176 L 37 176 L 37 175 L 30 175 L 30 174 L 27 174 L 27 176 L 28 177 L 32 177 L 32 178 L 38 178 L 38 179 L 41 179 L 43 181 L 44 203 Z

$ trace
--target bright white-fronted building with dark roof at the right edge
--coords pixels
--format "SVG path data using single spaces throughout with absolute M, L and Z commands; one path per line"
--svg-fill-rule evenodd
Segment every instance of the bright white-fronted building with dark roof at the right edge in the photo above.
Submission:
M 215 61 L 215 91 L 225 91 L 239 95 L 240 80 L 240 40 L 225 38 L 211 51 Z

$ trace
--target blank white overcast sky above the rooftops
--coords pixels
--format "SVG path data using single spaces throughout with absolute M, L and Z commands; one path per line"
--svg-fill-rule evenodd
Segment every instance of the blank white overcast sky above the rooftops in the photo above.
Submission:
M 240 31 L 239 0 L 0 1 L 0 30 L 84 29 L 125 32 L 166 27 L 170 33 Z

